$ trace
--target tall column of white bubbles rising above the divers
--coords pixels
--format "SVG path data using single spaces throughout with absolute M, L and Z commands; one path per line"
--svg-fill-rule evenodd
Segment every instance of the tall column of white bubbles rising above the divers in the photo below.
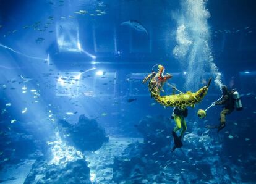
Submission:
M 186 68 L 186 88 L 196 90 L 202 85 L 205 74 L 215 77 L 215 85 L 221 88 L 221 73 L 211 53 L 210 28 L 207 20 L 210 13 L 205 0 L 182 0 L 181 13 L 173 14 L 177 21 L 174 56 Z

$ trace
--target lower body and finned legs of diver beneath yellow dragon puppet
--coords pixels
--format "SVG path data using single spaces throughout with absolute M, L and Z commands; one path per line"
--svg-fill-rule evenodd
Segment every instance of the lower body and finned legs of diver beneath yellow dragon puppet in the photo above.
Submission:
M 184 133 L 187 130 L 185 117 L 187 117 L 187 107 L 174 107 L 171 119 L 174 119 L 174 121 L 176 123 L 176 127 L 174 127 L 173 132 L 172 132 L 173 140 L 174 140 L 174 146 L 171 149 L 172 152 L 176 148 L 181 148 L 183 146 L 182 138 L 184 136 Z M 178 130 L 181 131 L 179 136 L 177 136 L 177 133 L 176 133 Z

